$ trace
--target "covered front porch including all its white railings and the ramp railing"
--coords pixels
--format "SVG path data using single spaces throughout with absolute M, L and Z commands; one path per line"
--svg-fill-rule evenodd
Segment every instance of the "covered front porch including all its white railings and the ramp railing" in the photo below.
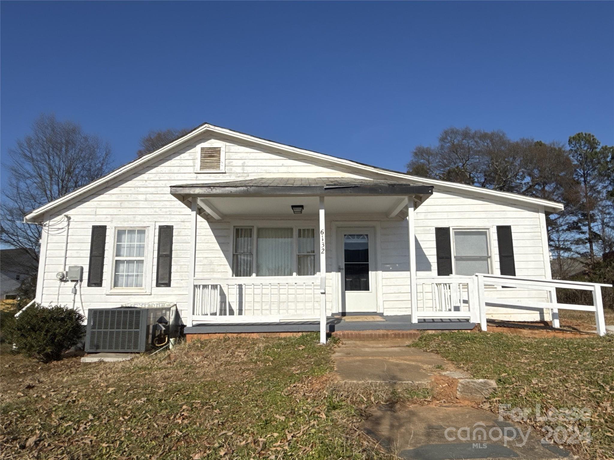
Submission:
M 192 213 L 186 332 L 317 329 L 325 342 L 331 327 L 363 327 L 335 318 L 352 313 L 383 315 L 405 329 L 450 322 L 486 329 L 487 305 L 546 309 L 556 325 L 561 306 L 551 280 L 418 277 L 414 213 L 432 193 L 360 178 L 171 186 Z M 485 285 L 541 289 L 550 301 L 500 300 Z M 590 311 L 600 331 L 598 297 Z M 588 308 L 562 306 L 572 307 Z

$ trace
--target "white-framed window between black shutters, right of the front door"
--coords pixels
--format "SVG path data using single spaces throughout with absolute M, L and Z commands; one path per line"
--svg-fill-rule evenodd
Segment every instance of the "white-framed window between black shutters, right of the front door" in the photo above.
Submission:
M 454 229 L 454 274 L 492 273 L 488 229 Z

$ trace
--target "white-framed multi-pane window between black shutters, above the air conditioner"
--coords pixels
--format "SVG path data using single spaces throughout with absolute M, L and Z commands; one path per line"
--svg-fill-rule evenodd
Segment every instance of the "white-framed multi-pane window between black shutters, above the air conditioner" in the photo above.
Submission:
M 144 287 L 146 234 L 144 228 L 115 230 L 114 289 Z

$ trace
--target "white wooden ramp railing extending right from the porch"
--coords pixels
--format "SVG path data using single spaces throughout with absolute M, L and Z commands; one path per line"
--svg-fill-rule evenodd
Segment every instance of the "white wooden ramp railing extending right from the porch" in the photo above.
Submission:
M 601 297 L 601 288 L 612 287 L 601 283 L 585 283 L 565 280 L 536 280 L 534 278 L 512 277 L 503 275 L 476 274 L 477 292 L 480 297 L 480 326 L 486 331 L 486 307 L 505 307 L 521 310 L 551 310 L 553 325 L 558 327 L 558 310 L 581 310 L 595 313 L 597 334 L 605 335 L 604 304 Z M 484 291 L 484 285 L 505 286 L 507 288 L 537 289 L 548 293 L 549 302 L 534 301 L 532 299 L 502 299 Z M 581 289 L 593 291 L 593 305 L 559 304 L 556 301 L 556 288 Z M 496 291 L 492 291 L 495 293 Z

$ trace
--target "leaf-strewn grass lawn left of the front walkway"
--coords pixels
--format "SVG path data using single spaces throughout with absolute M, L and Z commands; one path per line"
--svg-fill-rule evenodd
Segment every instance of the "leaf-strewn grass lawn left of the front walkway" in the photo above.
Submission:
M 327 387 L 333 345 L 317 334 L 95 364 L 3 347 L 4 458 L 390 458 L 357 429 L 358 402 L 380 401 Z

